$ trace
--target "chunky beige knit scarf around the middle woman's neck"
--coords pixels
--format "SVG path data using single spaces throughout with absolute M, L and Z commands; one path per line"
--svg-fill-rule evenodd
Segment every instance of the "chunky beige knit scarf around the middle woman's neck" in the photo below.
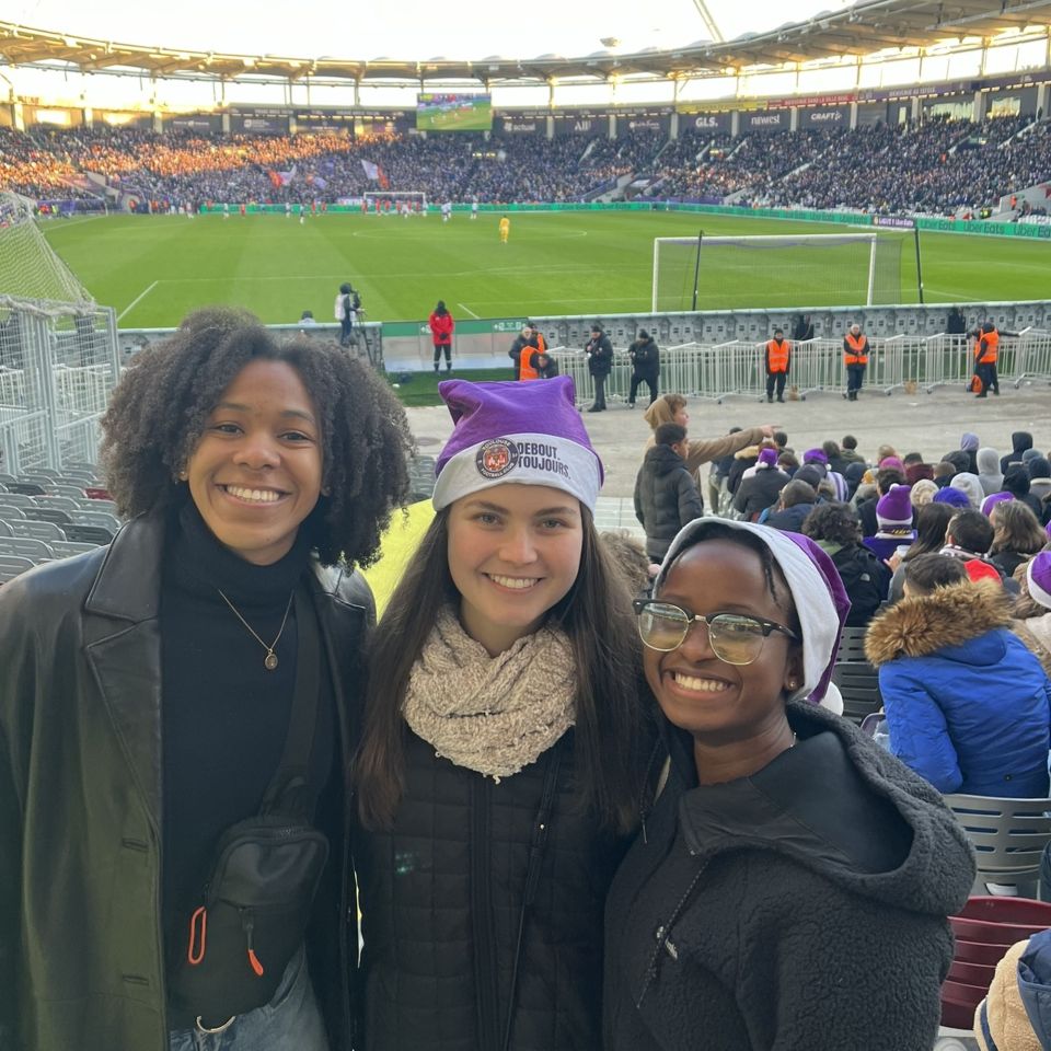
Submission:
M 573 726 L 569 639 L 542 627 L 489 657 L 443 609 L 413 667 L 403 713 L 439 757 L 480 774 L 517 774 Z

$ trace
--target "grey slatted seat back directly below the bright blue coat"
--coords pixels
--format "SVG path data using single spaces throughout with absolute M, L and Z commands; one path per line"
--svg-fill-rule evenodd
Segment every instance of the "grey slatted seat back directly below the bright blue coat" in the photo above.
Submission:
M 1051 842 L 1051 799 L 954 794 L 945 802 L 974 847 L 974 892 L 991 893 L 988 886 L 995 883 L 1013 887 L 1018 897 L 1036 898 L 1043 848 Z

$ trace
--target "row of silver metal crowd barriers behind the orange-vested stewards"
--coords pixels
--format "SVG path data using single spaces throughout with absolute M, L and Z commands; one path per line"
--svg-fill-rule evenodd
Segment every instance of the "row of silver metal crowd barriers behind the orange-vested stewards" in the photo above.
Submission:
M 974 372 L 973 342 L 965 336 L 889 336 L 870 339 L 865 385 L 892 394 L 897 390 L 931 393 L 937 386 L 966 385 Z M 660 390 L 691 397 L 765 399 L 763 367 L 765 343 L 734 340 L 714 346 L 688 343 L 662 348 Z M 559 370 L 571 376 L 577 400 L 591 400 L 593 382 L 582 350 L 555 347 L 552 357 Z M 1051 382 L 1051 332 L 1029 328 L 1018 336 L 1001 336 L 997 366 L 1001 382 L 1020 386 L 1026 380 Z M 626 349 L 614 349 L 613 371 L 605 383 L 605 396 L 626 401 L 631 389 L 632 362 Z M 843 343 L 811 339 L 795 344 L 786 391 L 805 399 L 809 394 L 846 390 Z M 648 399 L 642 386 L 639 397 Z

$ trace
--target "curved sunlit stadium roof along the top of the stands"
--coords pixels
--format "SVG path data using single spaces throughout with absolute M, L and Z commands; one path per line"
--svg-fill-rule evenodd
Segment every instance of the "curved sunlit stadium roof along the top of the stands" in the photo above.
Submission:
M 85 72 L 134 69 L 159 77 L 236 79 L 277 77 L 357 81 L 477 80 L 481 83 L 552 78 L 651 74 L 685 77 L 728 67 L 777 66 L 843 55 L 869 55 L 892 48 L 924 47 L 966 37 L 989 38 L 1026 26 L 1051 26 L 1051 0 L 863 0 L 776 30 L 746 34 L 725 43 L 702 41 L 688 47 L 613 50 L 579 57 L 462 60 L 435 58 L 294 58 L 148 47 L 33 30 L 0 22 L 0 58 L 9 65 L 69 62 Z

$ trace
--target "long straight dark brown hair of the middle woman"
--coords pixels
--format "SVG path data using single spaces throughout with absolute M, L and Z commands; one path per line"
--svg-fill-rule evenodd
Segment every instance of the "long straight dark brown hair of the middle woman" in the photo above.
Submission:
M 637 821 L 646 741 L 642 657 L 631 594 L 607 559 L 590 511 L 581 507 L 580 568 L 547 613 L 568 636 L 576 665 L 574 749 L 579 793 L 599 823 L 616 832 Z M 413 666 L 444 605 L 459 610 L 449 571 L 449 509 L 430 523 L 391 596 L 369 652 L 365 728 L 351 779 L 358 813 L 370 829 L 389 829 L 405 790 L 402 715 Z

